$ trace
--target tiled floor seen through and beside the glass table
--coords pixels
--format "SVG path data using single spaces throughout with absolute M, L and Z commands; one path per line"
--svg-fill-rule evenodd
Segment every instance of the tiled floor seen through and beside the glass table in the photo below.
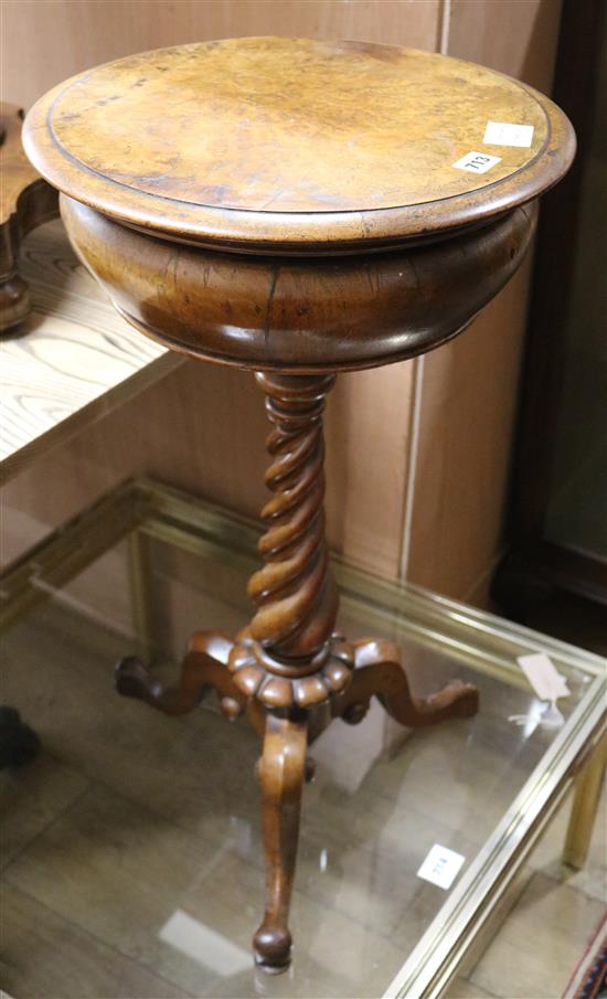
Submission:
M 17 999 L 379 997 L 444 900 L 416 878 L 429 846 L 473 855 L 545 748 L 507 721 L 526 694 L 487 678 L 468 722 L 412 734 L 377 710 L 356 729 L 336 723 L 306 789 L 296 960 L 267 978 L 249 955 L 263 884 L 256 737 L 213 710 L 175 720 L 118 700 L 108 663 L 121 649 L 50 608 L 4 642 L 2 700 L 44 745 L 0 782 L 0 978 Z M 452 669 L 422 667 L 426 684 Z M 562 870 L 565 821 L 451 999 L 562 995 L 606 874 L 600 837 L 585 871 Z

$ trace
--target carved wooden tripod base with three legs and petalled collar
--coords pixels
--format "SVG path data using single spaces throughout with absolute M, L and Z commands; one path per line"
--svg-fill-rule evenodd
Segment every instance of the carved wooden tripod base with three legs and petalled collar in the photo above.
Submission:
M 290 963 L 292 942 L 288 913 L 301 789 L 313 773 L 313 764 L 307 757 L 308 746 L 333 718 L 341 718 L 349 724 L 361 722 L 372 697 L 376 697 L 397 722 L 418 727 L 475 714 L 478 691 L 456 680 L 429 698 L 414 697 L 396 645 L 383 640 L 348 642 L 332 636 L 318 668 L 299 679 L 264 669 L 259 666 L 263 661 L 248 631 L 242 633 L 235 641 L 217 633 L 199 631 L 192 637 L 181 676 L 173 687 L 160 683 L 135 657 L 118 663 L 116 686 L 121 694 L 146 701 L 166 714 L 192 711 L 213 688 L 222 712 L 230 720 L 246 713 L 262 736 L 258 774 L 266 903 L 253 945 L 256 963 L 265 970 L 276 973 Z M 244 692 L 247 684 L 249 694 Z M 283 703 L 273 705 L 273 698 Z

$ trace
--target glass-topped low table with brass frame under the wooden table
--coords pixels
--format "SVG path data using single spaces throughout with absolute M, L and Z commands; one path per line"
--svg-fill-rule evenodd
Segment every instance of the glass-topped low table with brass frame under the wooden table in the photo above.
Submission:
M 576 774 L 592 786 L 604 659 L 336 560 L 340 627 L 397 641 L 420 694 L 472 681 L 481 710 L 413 733 L 375 705 L 315 743 L 291 910 L 300 946 L 287 974 L 260 974 L 249 952 L 264 876 L 255 733 L 227 726 L 214 694 L 167 719 L 117 700 L 110 680 L 126 634 L 166 679 L 193 627 L 237 629 L 257 536 L 245 519 L 139 480 L 3 572 L 2 699 L 43 745 L 2 775 L 11 995 L 439 996 L 494 927 Z M 571 690 L 560 726 L 542 724 L 517 662 L 534 651 Z M 574 810 L 571 861 L 590 823 L 592 809 Z M 436 844 L 464 858 L 449 889 L 418 875 Z

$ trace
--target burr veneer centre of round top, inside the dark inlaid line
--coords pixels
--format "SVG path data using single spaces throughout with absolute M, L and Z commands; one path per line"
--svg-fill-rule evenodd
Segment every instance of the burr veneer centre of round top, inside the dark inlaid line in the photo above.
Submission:
M 166 107 L 159 115 L 153 108 Z M 452 163 L 489 118 L 533 127 L 490 177 Z M 66 153 L 147 194 L 257 212 L 359 212 L 478 190 L 545 146 L 541 104 L 515 81 L 425 52 L 309 39 L 234 39 L 143 53 L 60 93 Z

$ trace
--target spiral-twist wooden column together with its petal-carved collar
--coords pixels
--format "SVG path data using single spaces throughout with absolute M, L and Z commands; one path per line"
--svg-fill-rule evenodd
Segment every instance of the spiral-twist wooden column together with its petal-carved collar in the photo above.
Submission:
M 328 700 L 351 679 L 334 655 L 337 591 L 324 538 L 322 414 L 334 375 L 258 373 L 274 427 L 262 510 L 264 566 L 248 584 L 257 610 L 230 657 L 238 689 L 268 708 Z

